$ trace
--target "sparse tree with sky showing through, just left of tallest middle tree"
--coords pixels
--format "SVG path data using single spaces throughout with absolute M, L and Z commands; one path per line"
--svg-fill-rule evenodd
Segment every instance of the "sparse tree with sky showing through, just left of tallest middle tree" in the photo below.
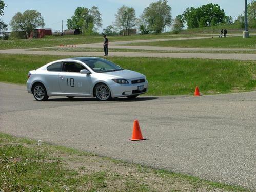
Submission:
M 115 14 L 115 26 L 122 30 L 124 35 L 129 35 L 129 29 L 134 27 L 136 22 L 135 9 L 132 7 L 123 5 Z

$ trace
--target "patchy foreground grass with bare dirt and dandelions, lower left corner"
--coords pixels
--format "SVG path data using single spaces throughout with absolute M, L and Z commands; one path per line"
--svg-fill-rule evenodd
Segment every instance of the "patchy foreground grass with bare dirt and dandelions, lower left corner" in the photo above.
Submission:
M 1 191 L 248 191 L 3 133 L 0 178 Z

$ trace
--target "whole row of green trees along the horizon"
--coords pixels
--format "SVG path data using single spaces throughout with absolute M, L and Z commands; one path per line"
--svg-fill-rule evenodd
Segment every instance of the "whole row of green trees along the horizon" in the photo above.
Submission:
M 0 19 L 6 7 L 3 0 L 0 0 Z M 256 28 L 256 0 L 248 3 L 249 27 Z M 166 26 L 172 26 L 175 33 L 179 33 L 185 25 L 188 28 L 218 26 L 220 24 L 231 24 L 233 19 L 225 14 L 225 11 L 218 4 L 206 4 L 201 7 L 187 8 L 182 14 L 172 19 L 171 7 L 167 0 L 159 0 L 149 4 L 143 13 L 136 18 L 135 9 L 123 5 L 115 14 L 115 21 L 112 25 L 103 29 L 107 35 L 130 35 L 130 29 L 137 28 L 141 34 L 162 33 Z M 239 15 L 235 23 L 244 26 L 244 16 Z M 36 10 L 26 10 L 24 13 L 16 13 L 9 23 L 13 31 L 25 33 L 26 38 L 30 37 L 31 32 L 44 27 L 45 22 L 41 13 Z M 0 20 L 0 37 L 7 30 L 7 24 Z M 98 7 L 92 6 L 77 7 L 74 15 L 67 20 L 68 29 L 79 29 L 85 35 L 99 34 L 102 27 L 101 13 Z

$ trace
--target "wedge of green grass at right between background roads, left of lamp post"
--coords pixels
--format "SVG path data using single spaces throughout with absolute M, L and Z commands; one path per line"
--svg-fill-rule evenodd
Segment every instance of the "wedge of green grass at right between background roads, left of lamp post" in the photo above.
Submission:
M 248 48 L 256 49 L 256 36 L 244 39 L 243 37 L 206 38 L 179 41 L 140 42 L 126 45 L 162 46 L 162 47 L 190 47 L 190 48 Z

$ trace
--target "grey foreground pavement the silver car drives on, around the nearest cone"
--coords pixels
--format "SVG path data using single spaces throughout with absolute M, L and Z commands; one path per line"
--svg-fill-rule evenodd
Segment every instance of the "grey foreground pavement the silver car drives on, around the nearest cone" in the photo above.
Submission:
M 36 102 L 0 83 L 0 131 L 256 191 L 256 92 Z M 132 142 L 139 119 L 146 141 Z

